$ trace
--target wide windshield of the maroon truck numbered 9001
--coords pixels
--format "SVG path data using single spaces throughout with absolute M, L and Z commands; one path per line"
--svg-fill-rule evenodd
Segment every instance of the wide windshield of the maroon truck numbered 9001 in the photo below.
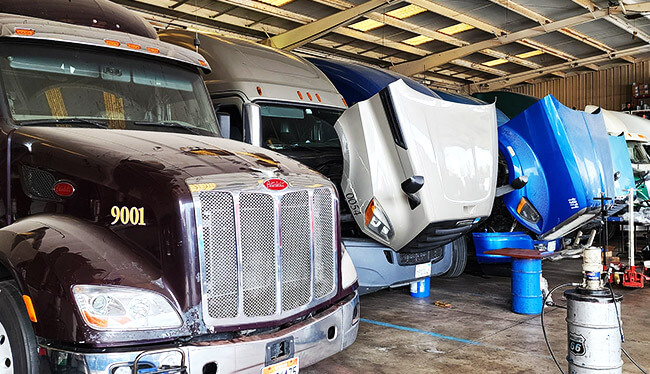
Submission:
M 5 43 L 0 78 L 17 125 L 219 135 L 200 74 L 174 64 L 126 53 Z

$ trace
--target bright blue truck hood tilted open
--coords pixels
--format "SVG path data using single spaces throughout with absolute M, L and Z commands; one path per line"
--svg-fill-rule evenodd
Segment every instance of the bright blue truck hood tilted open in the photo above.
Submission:
M 602 115 L 569 109 L 548 95 L 499 127 L 510 180 L 528 184 L 503 197 L 510 213 L 541 239 L 562 237 L 593 218 L 601 192 L 614 196 L 614 164 Z M 522 198 L 540 219 L 517 212 Z M 611 202 L 607 203 L 611 205 Z

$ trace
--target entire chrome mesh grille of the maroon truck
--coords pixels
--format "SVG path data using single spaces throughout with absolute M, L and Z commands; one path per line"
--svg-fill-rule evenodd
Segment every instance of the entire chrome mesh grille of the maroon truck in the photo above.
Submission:
M 200 191 L 204 313 L 210 319 L 278 315 L 335 290 L 335 197 Z

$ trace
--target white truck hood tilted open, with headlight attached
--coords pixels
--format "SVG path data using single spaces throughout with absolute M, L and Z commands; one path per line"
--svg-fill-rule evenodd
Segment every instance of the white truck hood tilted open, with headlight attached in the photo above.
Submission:
M 490 215 L 498 152 L 494 104 L 453 103 L 398 80 L 346 110 L 335 128 L 344 198 L 359 227 L 377 241 L 398 251 L 432 224 L 468 226 Z M 411 209 L 400 186 L 413 176 L 424 184 L 413 194 L 421 203 Z M 373 198 L 392 226 L 389 238 L 366 226 Z

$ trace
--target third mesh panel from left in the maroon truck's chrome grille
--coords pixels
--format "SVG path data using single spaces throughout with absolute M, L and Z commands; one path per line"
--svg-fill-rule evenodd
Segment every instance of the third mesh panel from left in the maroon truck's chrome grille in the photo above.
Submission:
M 287 311 L 311 299 L 309 194 L 291 192 L 280 200 L 282 310 Z

